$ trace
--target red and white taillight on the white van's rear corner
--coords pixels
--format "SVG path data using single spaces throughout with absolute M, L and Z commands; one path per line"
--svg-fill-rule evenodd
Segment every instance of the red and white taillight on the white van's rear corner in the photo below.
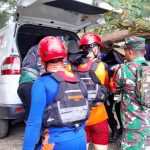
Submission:
M 21 74 L 19 56 L 7 57 L 2 64 L 1 74 L 2 75 Z

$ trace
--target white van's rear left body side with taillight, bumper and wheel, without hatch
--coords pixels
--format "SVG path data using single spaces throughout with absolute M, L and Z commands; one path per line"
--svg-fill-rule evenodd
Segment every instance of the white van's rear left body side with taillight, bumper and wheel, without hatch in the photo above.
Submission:
M 25 113 L 17 95 L 21 70 L 14 31 L 15 23 L 0 30 L 0 138 L 7 135 L 9 120 L 21 119 Z

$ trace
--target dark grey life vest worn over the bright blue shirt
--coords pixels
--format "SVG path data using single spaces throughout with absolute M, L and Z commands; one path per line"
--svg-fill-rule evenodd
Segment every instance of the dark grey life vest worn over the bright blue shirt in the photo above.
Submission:
M 60 74 L 63 75 L 63 73 Z M 79 126 L 89 116 L 89 104 L 82 92 L 86 88 L 83 89 L 76 79 L 61 77 L 57 73 L 52 73 L 51 76 L 59 83 L 59 89 L 55 101 L 45 109 L 43 126 L 45 128 L 76 126 L 77 124 Z

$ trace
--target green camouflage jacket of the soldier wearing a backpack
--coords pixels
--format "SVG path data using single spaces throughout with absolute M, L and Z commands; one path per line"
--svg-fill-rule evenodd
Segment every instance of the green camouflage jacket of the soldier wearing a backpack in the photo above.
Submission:
M 138 57 L 133 60 L 141 64 L 145 61 L 143 57 Z M 124 87 L 128 84 L 135 87 L 136 77 L 129 69 L 128 64 L 124 64 L 117 72 L 116 86 L 120 91 L 121 101 L 121 119 L 124 129 L 127 130 L 141 130 L 147 129 L 147 134 L 150 134 L 150 108 L 143 108 L 140 99 L 137 98 L 135 90 L 127 93 Z M 134 69 L 136 72 L 136 68 Z M 133 88 L 134 89 L 134 88 Z

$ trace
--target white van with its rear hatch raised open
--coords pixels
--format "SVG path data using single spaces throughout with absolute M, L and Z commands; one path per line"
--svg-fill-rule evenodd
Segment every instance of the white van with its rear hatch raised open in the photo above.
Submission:
M 99 25 L 97 20 L 105 12 L 79 0 L 19 1 L 15 23 L 0 30 L 0 138 L 7 135 L 10 120 L 24 117 L 17 96 L 20 65 L 38 37 L 53 35 L 77 41 L 77 33 Z

